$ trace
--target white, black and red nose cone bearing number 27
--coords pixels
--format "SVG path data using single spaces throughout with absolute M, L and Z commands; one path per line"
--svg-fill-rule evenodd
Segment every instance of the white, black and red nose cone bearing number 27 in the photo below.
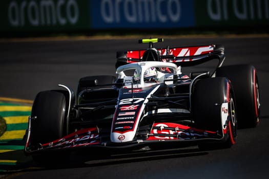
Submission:
M 118 105 L 113 117 L 110 140 L 115 143 L 130 142 L 136 137 L 136 131 L 141 120 L 142 111 L 158 86 L 143 88 L 121 88 Z

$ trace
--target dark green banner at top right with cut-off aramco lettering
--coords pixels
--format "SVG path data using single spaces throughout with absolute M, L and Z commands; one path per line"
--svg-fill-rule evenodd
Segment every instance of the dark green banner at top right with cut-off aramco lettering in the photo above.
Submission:
M 196 0 L 196 26 L 269 25 L 269 0 Z

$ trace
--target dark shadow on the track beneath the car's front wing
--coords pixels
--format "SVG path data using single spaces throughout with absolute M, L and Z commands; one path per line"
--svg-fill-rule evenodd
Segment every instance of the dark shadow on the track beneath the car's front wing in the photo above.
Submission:
M 98 152 L 98 153 L 97 153 Z M 31 172 L 39 170 L 51 170 L 51 169 L 67 169 L 67 168 L 83 168 L 83 167 L 96 167 L 106 166 L 114 164 L 124 164 L 143 161 L 154 161 L 161 159 L 172 158 L 185 158 L 189 156 L 206 155 L 208 152 L 201 151 L 198 147 L 179 148 L 179 149 L 167 149 L 167 150 L 151 150 L 141 149 L 132 152 L 121 153 L 102 153 L 100 151 L 80 151 L 73 152 L 69 155 L 69 160 L 62 162 L 50 163 L 37 163 L 34 162 L 31 156 L 25 156 L 23 150 L 16 150 L 13 152 L 7 152 L 9 155 L 20 155 L 20 160 L 17 165 L 2 165 L 5 170 L 0 174 L 12 174 L 16 172 Z M 57 156 L 55 156 L 56 158 Z M 24 162 L 23 162 L 24 161 Z

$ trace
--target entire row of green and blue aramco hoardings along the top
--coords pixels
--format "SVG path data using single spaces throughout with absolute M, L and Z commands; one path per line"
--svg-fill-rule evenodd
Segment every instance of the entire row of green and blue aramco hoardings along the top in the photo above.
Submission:
M 2 0 L 0 31 L 269 26 L 269 0 Z

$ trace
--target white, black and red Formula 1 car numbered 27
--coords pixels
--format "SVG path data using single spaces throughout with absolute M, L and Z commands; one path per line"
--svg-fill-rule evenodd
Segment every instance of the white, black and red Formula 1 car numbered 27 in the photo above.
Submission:
M 155 49 L 163 39 L 142 39 L 145 50 L 117 53 L 115 76 L 79 79 L 77 92 L 39 92 L 26 131 L 25 153 L 37 161 L 54 151 L 148 146 L 231 147 L 237 126 L 259 123 L 257 71 L 252 65 L 222 66 L 224 47 Z M 217 59 L 215 70 L 182 73 Z M 182 68 L 182 69 L 181 69 Z M 45 156 L 45 157 L 44 157 Z

